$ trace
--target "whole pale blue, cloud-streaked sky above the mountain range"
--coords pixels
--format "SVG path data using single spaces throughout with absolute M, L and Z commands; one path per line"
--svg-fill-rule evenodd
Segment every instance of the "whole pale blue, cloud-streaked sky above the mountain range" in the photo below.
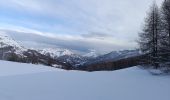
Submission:
M 163 0 L 156 0 L 160 5 Z M 153 0 L 0 0 L 0 30 L 31 48 L 136 49 Z

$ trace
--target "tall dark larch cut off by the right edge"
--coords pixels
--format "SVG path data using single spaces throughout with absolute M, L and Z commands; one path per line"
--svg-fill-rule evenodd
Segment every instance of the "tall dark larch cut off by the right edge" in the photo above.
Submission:
M 164 0 L 161 7 L 162 34 L 161 34 L 161 51 L 162 62 L 170 66 L 170 0 Z

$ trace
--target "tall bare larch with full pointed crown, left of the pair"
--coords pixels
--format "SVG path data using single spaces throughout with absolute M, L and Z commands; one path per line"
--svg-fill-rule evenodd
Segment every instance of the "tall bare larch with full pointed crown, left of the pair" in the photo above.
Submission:
M 139 33 L 139 45 L 143 53 L 148 55 L 148 64 L 159 66 L 159 37 L 161 34 L 161 18 L 159 8 L 154 2 L 148 13 L 143 30 Z

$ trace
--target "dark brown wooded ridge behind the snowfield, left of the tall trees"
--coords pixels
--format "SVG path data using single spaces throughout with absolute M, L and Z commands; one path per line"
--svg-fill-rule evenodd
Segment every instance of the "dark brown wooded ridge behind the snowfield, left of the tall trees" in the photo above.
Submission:
M 90 65 L 84 65 L 73 68 L 71 70 L 82 70 L 82 71 L 113 71 L 133 66 L 140 65 L 141 59 L 145 59 L 147 55 L 139 55 L 134 57 L 123 58 L 115 61 L 105 61 L 100 63 L 94 63 Z M 143 63 L 142 63 L 143 64 Z

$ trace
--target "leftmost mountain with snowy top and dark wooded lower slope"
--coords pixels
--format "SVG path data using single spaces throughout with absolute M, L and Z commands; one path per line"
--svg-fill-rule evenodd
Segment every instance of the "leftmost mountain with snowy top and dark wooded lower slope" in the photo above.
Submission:
M 44 65 L 61 64 L 50 56 L 40 54 L 36 50 L 24 48 L 3 32 L 0 32 L 0 60 Z

